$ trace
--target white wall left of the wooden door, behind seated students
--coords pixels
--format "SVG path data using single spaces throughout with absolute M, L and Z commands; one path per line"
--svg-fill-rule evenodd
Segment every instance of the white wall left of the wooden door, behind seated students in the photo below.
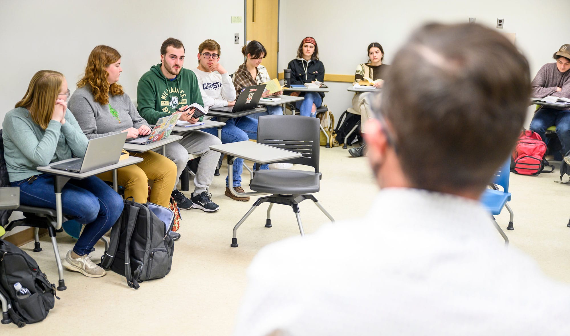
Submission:
M 119 83 L 133 98 L 140 76 L 160 63 L 162 41 L 171 36 L 186 47 L 186 68 L 196 67 L 198 45 L 211 38 L 233 72 L 243 62 L 241 44 L 233 42 L 235 32 L 243 38 L 243 23 L 231 23 L 231 16 L 243 15 L 243 2 L 235 0 L 0 0 L 0 120 L 38 70 L 62 72 L 73 92 L 98 44 L 123 56 Z

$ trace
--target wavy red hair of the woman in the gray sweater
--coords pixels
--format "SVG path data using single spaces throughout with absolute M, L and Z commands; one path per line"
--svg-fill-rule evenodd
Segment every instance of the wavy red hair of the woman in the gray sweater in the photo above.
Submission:
M 89 54 L 85 75 L 77 82 L 77 87 L 89 85 L 95 101 L 101 105 L 109 104 L 109 95 L 123 95 L 123 87 L 119 83 L 109 85 L 107 65 L 117 62 L 121 54 L 115 48 L 96 46 Z

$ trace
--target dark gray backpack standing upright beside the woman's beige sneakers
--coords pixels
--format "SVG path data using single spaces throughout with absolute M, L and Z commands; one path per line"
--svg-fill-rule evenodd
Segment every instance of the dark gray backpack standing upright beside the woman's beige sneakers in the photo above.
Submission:
M 134 289 L 139 289 L 139 282 L 165 277 L 174 254 L 174 240 L 168 234 L 173 224 L 174 212 L 169 208 L 136 203 L 129 197 L 111 230 L 100 266 L 127 277 Z

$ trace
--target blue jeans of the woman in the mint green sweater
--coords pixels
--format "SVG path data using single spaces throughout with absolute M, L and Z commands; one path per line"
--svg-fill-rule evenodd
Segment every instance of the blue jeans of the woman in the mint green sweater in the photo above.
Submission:
M 55 209 L 54 176 L 36 176 L 32 183 L 28 183 L 28 179 L 11 183 L 13 187 L 20 187 L 20 203 Z M 97 240 L 117 222 L 123 212 L 123 198 L 95 176 L 70 179 L 62 190 L 62 209 L 63 214 L 87 224 L 73 248 L 83 256 L 91 253 Z

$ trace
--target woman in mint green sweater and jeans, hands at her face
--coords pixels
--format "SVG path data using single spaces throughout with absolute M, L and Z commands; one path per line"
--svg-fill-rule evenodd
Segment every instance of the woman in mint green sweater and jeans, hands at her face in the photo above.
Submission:
M 21 204 L 55 209 L 54 177 L 36 168 L 85 155 L 88 140 L 67 109 L 69 95 L 62 73 L 38 71 L 26 95 L 4 118 L 4 158 L 11 185 L 20 187 Z M 86 224 L 64 267 L 88 277 L 104 276 L 89 253 L 121 215 L 123 199 L 97 177 L 71 179 L 63 188 L 62 206 L 64 214 Z

